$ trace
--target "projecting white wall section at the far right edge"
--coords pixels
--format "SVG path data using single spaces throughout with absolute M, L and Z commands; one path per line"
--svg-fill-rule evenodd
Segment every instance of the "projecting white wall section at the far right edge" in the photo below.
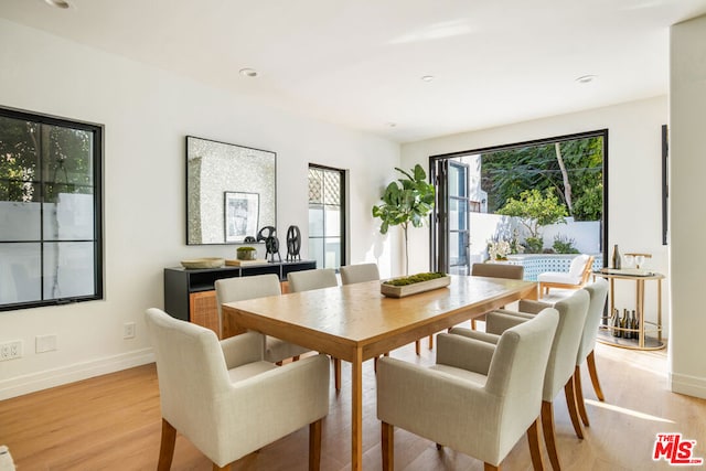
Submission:
M 706 398 L 706 17 L 672 28 L 670 161 L 672 225 L 672 390 Z

